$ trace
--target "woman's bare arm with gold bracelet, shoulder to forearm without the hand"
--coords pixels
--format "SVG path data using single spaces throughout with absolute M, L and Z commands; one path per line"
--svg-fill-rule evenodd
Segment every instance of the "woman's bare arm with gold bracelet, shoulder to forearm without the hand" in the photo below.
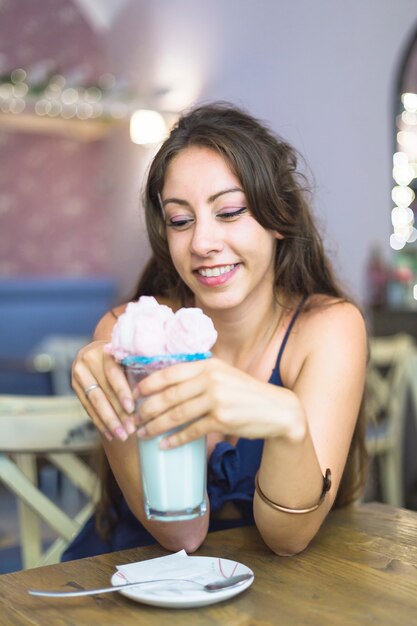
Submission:
M 305 515 L 281 513 L 255 495 L 257 526 L 265 542 L 279 554 L 304 549 L 331 508 L 365 382 L 367 340 L 359 311 L 341 303 L 312 310 L 307 316 L 310 319 L 305 319 L 297 337 L 298 345 L 306 345 L 305 359 L 297 374 L 293 372 L 291 384 L 304 413 L 305 431 L 295 442 L 291 436 L 265 442 L 259 483 L 271 500 L 292 508 L 318 502 L 327 468 L 332 471 L 332 487 L 317 511 Z M 284 480 L 274 480 L 277 472 Z M 277 525 L 280 532 L 274 533 Z

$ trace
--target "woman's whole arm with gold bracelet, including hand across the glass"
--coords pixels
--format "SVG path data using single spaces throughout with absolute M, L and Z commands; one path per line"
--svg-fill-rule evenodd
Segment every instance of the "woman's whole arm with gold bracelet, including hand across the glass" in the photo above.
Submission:
M 303 515 L 278 511 L 256 494 L 254 513 L 265 542 L 277 554 L 303 550 L 334 501 L 363 393 L 366 332 L 351 304 L 312 309 L 292 341 L 285 368 L 289 389 L 261 382 L 218 359 L 174 366 L 140 383 L 150 396 L 141 407 L 142 436 L 203 418 L 165 440 L 176 446 L 208 432 L 264 438 L 259 484 L 272 501 L 289 508 L 316 504 L 323 475 L 332 488 L 321 506 Z M 287 346 L 287 350 L 289 346 Z

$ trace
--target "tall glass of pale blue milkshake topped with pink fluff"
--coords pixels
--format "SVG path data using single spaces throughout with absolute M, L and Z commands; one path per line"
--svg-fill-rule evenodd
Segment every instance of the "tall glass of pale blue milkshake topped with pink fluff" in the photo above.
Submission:
M 142 296 L 130 302 L 118 318 L 106 349 L 123 365 L 134 392 L 143 378 L 157 370 L 209 358 L 216 339 L 213 322 L 201 309 L 182 308 L 174 313 L 155 298 Z M 143 402 L 138 398 L 137 411 Z M 206 437 L 169 450 L 160 447 L 163 437 L 184 427 L 138 438 L 148 519 L 186 520 L 206 512 Z

